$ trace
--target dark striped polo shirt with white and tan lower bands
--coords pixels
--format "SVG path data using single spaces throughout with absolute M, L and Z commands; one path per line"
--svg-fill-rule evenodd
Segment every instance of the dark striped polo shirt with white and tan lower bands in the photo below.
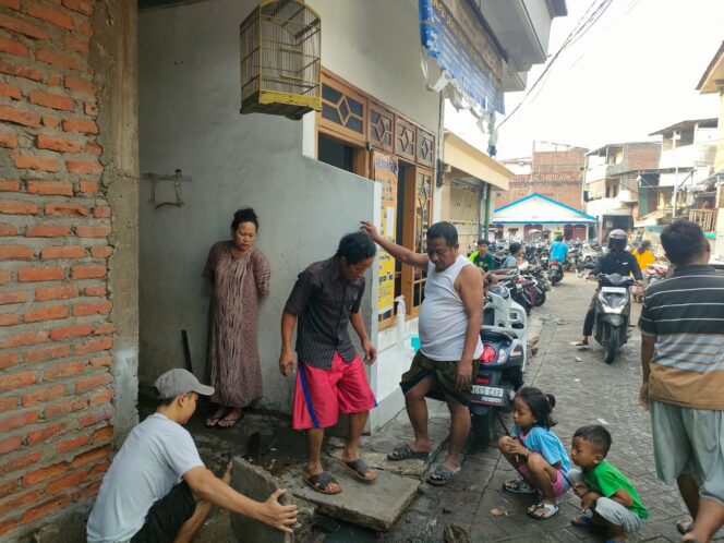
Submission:
M 651 398 L 724 410 L 724 276 L 707 265 L 677 267 L 645 290 L 639 326 L 656 338 Z

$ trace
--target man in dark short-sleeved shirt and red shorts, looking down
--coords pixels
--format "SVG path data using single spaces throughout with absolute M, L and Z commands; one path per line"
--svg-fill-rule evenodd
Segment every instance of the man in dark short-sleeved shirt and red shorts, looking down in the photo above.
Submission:
M 299 275 L 281 316 L 279 370 L 288 375 L 298 364 L 292 426 L 306 431 L 307 459 L 303 481 L 323 494 L 341 486 L 322 466 L 325 429 L 349 414 L 349 432 L 339 463 L 357 479 L 371 483 L 377 473 L 360 458 L 360 436 L 370 410 L 377 406 L 362 359 L 349 337 L 352 325 L 372 364 L 377 350 L 370 341 L 360 312 L 364 273 L 377 249 L 362 232 L 348 233 L 337 253 L 316 262 Z M 291 337 L 297 328 L 297 357 Z

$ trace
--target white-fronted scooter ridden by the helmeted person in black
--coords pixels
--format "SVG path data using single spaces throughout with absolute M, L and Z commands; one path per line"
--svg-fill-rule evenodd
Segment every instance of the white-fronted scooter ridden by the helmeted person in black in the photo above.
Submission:
M 603 347 L 606 364 L 613 363 L 618 348 L 628 341 L 628 322 L 631 315 L 629 287 L 632 277 L 600 274 L 600 291 L 595 299 L 593 335 Z

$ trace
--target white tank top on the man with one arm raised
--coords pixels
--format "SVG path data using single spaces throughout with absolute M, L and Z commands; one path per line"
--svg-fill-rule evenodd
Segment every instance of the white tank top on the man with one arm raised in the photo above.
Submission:
M 458 256 L 455 264 L 444 272 L 435 272 L 432 262 L 427 267 L 425 300 L 420 309 L 418 327 L 420 350 L 431 360 L 450 362 L 462 357 L 468 314 L 460 294 L 455 290 L 455 280 L 463 266 L 472 265 L 464 256 Z M 473 357 L 479 358 L 482 352 L 483 343 L 478 335 Z

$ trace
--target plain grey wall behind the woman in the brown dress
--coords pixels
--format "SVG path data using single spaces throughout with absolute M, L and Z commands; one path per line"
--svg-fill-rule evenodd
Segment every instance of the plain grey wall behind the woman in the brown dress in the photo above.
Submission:
M 283 303 L 299 272 L 374 216 L 375 185 L 302 156 L 302 122 L 239 114 L 239 24 L 251 4 L 218 0 L 140 17 L 141 171 L 180 168 L 192 178 L 182 183 L 183 207 L 158 209 L 142 180 L 140 377 L 147 384 L 183 365 L 181 329 L 189 330 L 194 370 L 205 374 L 210 289 L 201 272 L 210 245 L 228 239 L 233 212 L 252 205 L 257 246 L 272 265 L 260 316 L 262 405 L 286 411 L 293 382 L 277 365 Z M 323 19 L 325 26 L 333 25 Z

